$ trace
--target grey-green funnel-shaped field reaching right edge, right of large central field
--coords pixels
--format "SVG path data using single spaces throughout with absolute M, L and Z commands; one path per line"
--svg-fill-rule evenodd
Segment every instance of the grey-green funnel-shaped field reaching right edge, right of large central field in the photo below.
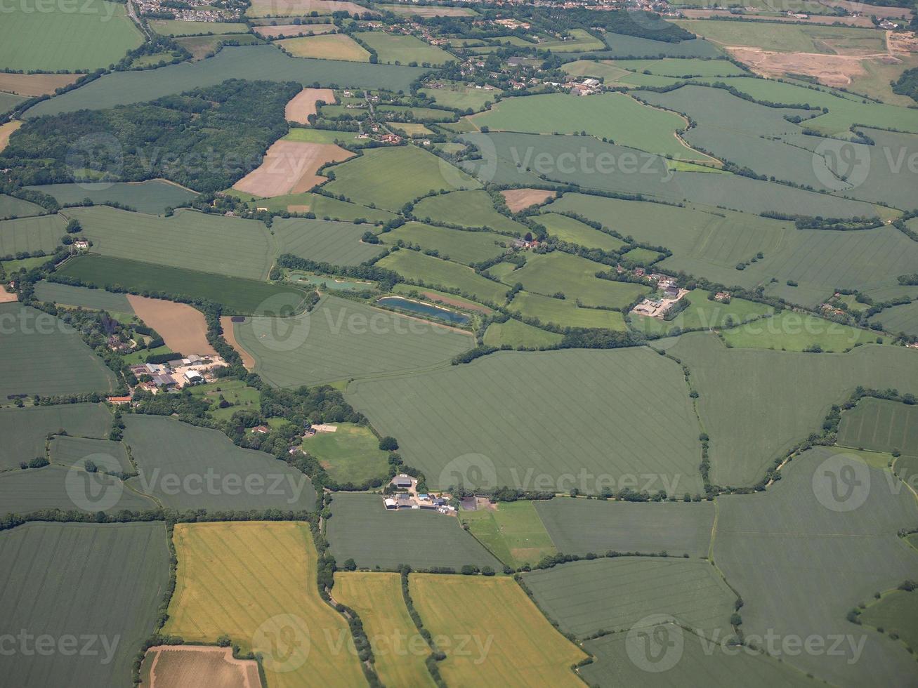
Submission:
M 711 483 L 718 485 L 755 484 L 772 461 L 818 431 L 831 406 L 857 385 L 918 390 L 916 352 L 901 347 L 821 354 L 725 349 L 714 335 L 692 333 L 664 348 L 691 371 L 711 436 Z

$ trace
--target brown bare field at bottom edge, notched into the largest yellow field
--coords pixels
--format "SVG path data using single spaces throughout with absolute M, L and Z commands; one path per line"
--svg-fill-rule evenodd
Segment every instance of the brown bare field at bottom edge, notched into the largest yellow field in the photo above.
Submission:
M 150 688 L 261 688 L 258 662 L 236 660 L 231 648 L 158 645 L 147 650 Z

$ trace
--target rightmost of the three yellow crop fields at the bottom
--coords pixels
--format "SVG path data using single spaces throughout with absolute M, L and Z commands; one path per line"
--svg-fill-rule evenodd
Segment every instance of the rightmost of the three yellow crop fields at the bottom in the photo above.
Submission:
M 571 665 L 587 657 L 509 578 L 412 573 L 409 590 L 424 627 L 446 653 L 448 685 L 577 686 Z

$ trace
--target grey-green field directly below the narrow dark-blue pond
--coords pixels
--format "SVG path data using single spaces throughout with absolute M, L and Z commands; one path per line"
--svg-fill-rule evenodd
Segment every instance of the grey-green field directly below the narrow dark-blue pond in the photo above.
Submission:
M 452 328 L 331 295 L 303 316 L 248 318 L 235 327 L 255 371 L 284 387 L 442 365 L 475 346 Z

